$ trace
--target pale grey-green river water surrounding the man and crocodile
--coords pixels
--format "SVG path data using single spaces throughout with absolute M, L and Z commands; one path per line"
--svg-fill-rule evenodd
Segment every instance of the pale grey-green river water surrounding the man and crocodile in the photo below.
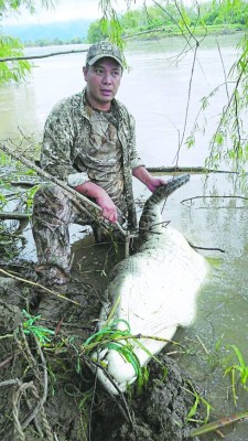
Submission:
M 224 83 L 223 63 L 228 72 L 235 61 L 238 39 L 229 35 L 218 37 L 223 62 L 215 37 L 202 42 L 192 82 L 185 137 L 194 123 L 202 97 Z M 205 115 L 205 132 L 197 135 L 196 146 L 191 150 L 182 143 L 177 154 L 193 64 L 192 52 L 180 55 L 184 45 L 182 39 L 171 37 L 136 42 L 127 47 L 130 69 L 123 75 L 118 98 L 136 118 L 138 150 L 148 166 L 171 166 L 175 163 L 181 166 L 203 165 L 211 135 L 225 104 L 225 89 L 222 88 Z M 26 54 L 67 49 L 29 49 Z M 84 53 L 39 60 L 34 62 L 28 83 L 1 87 L 1 139 L 19 137 L 20 128 L 25 135 L 34 133 L 40 140 L 53 105 L 84 86 Z M 134 192 L 137 196 L 148 196 L 137 182 Z M 179 362 L 193 378 L 201 381 L 205 398 L 214 407 L 213 418 L 247 410 L 248 392 L 237 385 L 236 409 L 230 378 L 224 376 L 225 369 L 238 362 L 229 347 L 231 344 L 238 346 L 248 365 L 248 206 L 244 197 L 248 195 L 236 174 L 213 173 L 207 178 L 192 174 L 190 183 L 168 200 L 163 214 L 194 246 L 208 248 L 201 251 L 208 258 L 211 271 L 198 297 L 196 321 L 191 329 L 180 330 L 175 340 L 186 348 L 191 347 L 187 354 L 177 355 Z M 25 235 L 29 247 L 23 256 L 29 255 L 35 260 L 29 229 Z M 77 238 L 77 233 L 73 237 Z M 204 439 L 215 440 L 213 434 Z M 247 423 L 238 424 L 226 439 L 246 441 Z

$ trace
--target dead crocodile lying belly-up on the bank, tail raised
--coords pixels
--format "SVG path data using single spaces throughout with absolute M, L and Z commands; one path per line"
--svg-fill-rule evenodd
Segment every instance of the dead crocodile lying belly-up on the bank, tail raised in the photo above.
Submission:
M 99 330 L 109 323 L 110 314 L 116 329 L 125 331 L 128 323 L 130 333 L 140 336 L 132 340 L 132 352 L 141 367 L 172 340 L 177 326 L 193 322 L 197 292 L 207 275 L 205 258 L 161 217 L 161 203 L 188 180 L 188 174 L 173 178 L 147 200 L 138 250 L 115 267 L 100 312 Z M 118 395 L 137 379 L 137 372 L 111 347 L 106 345 L 91 357 L 105 366 L 96 368 L 98 379 Z

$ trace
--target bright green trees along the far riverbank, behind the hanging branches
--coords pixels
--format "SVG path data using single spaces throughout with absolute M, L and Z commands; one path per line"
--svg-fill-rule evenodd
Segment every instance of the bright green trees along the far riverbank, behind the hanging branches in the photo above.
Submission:
M 145 9 L 128 11 L 121 17 L 118 17 L 123 36 L 142 33 L 145 31 L 158 30 L 164 31 L 166 34 L 179 34 L 182 32 L 181 24 L 190 29 L 208 28 L 209 32 L 222 30 L 244 30 L 248 25 L 248 3 L 240 0 L 235 2 L 231 8 L 223 8 L 219 2 L 206 2 L 201 4 L 200 11 L 195 8 L 176 7 L 174 2 L 166 2 L 164 7 L 154 6 Z M 94 43 L 108 36 L 108 29 L 103 30 L 100 20 L 95 21 L 89 25 L 87 40 Z

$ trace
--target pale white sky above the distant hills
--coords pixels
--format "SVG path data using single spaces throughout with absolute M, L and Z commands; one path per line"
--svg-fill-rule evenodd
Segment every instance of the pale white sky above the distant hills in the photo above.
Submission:
M 55 21 L 68 21 L 77 19 L 91 19 L 97 20 L 101 17 L 99 9 L 99 0 L 54 0 L 54 8 L 46 10 L 40 8 L 41 1 L 35 1 L 37 9 L 35 14 L 30 14 L 26 9 L 21 10 L 21 14 L 8 17 L 1 20 L 4 24 L 42 24 L 51 23 Z M 130 3 L 136 8 L 142 7 L 143 0 L 132 0 Z M 152 0 L 145 0 L 147 4 L 152 4 Z M 118 12 L 125 12 L 127 10 L 125 0 L 116 0 L 114 3 Z

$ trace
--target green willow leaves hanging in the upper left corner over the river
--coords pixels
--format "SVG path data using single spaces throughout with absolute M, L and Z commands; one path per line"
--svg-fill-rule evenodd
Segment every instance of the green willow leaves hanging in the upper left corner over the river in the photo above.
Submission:
M 51 8 L 53 0 L 40 0 L 40 4 Z M 2 34 L 1 21 L 13 14 L 20 14 L 22 8 L 35 13 L 36 6 L 35 0 L 0 0 L 0 58 L 13 58 L 13 61 L 0 63 L 0 85 L 11 80 L 19 83 L 25 79 L 31 72 L 31 64 L 26 60 L 14 60 L 23 56 L 23 44 L 19 39 Z

